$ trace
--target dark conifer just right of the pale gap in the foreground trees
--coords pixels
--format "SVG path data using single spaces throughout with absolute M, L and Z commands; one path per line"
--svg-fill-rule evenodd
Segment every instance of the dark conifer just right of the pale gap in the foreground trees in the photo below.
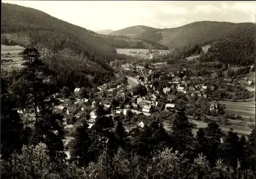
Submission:
M 89 164 L 88 149 L 91 141 L 88 135 L 88 126 L 87 122 L 83 122 L 82 125 L 76 128 L 75 139 L 71 144 L 70 161 L 77 161 L 78 166 L 87 166 Z

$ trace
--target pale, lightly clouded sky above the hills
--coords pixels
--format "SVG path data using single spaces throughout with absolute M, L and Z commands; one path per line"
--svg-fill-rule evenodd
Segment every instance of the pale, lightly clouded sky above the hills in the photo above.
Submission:
M 175 28 L 194 21 L 255 22 L 256 1 L 2 1 L 35 8 L 89 30 Z

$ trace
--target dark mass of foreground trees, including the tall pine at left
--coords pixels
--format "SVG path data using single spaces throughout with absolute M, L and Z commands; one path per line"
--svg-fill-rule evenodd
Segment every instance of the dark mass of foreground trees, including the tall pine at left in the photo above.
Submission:
M 255 178 L 255 126 L 248 140 L 232 129 L 222 133 L 214 121 L 194 136 L 195 124 L 179 108 L 163 116 L 170 131 L 155 118 L 127 133 L 99 105 L 92 129 L 88 114 L 74 121 L 75 130 L 65 129 L 52 99 L 44 100 L 54 92 L 56 74 L 37 49 L 26 48 L 23 55 L 27 63 L 19 73 L 1 73 L 2 178 Z M 30 125 L 17 113 L 24 104 L 41 107 Z M 67 135 L 74 139 L 65 145 Z

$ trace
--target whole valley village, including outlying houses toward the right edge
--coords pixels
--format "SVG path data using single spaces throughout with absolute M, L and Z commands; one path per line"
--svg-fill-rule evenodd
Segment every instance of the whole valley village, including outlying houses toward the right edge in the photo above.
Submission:
M 96 109 L 98 106 L 102 106 L 104 116 L 110 117 L 114 122 L 121 120 L 126 132 L 133 133 L 137 128 L 143 128 L 145 125 L 150 125 L 152 121 L 161 119 L 162 113 L 174 113 L 181 110 L 179 100 L 182 100 L 182 97 L 178 99 L 178 95 L 185 98 L 194 96 L 194 98 L 207 99 L 210 97 L 209 91 L 214 92 L 218 88 L 202 84 L 202 76 L 190 76 L 188 78 L 184 75 L 186 69 L 178 71 L 179 75 L 175 75 L 173 72 L 154 73 L 152 70 L 144 69 L 143 66 L 137 66 L 138 75 L 126 76 L 127 81 L 133 82 L 133 87 L 130 85 L 131 88 L 127 88 L 129 84 L 121 84 L 115 88 L 110 88 L 104 84 L 98 87 L 98 91 L 94 93 L 94 98 L 79 98 L 80 88 L 76 88 L 69 98 L 63 98 L 59 93 L 56 93 L 46 100 L 54 99 L 53 112 L 63 116 L 63 123 L 66 128 L 71 127 L 80 118 L 86 117 L 89 128 L 93 129 L 94 123 L 99 117 Z M 130 68 L 126 70 L 130 70 Z M 162 90 L 157 89 L 153 84 L 156 81 L 166 83 L 165 87 Z M 141 89 L 135 90 L 136 85 L 145 89 L 142 92 L 143 95 L 141 95 Z M 254 82 L 248 81 L 247 86 L 254 86 Z M 219 108 L 223 107 L 216 101 L 209 101 L 208 110 L 210 113 L 220 114 L 219 111 L 223 111 L 223 109 Z M 37 112 L 40 112 L 38 107 Z M 23 118 L 28 118 L 29 121 L 33 121 L 35 118 L 33 108 L 18 110 L 18 113 Z

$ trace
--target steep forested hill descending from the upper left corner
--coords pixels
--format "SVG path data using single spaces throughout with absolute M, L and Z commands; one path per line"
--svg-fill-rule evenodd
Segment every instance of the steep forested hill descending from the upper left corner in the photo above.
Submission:
M 2 3 L 2 34 L 6 33 L 18 34 L 16 37 L 23 37 L 19 38 L 23 43 L 24 39 L 29 39 L 36 44 L 45 44 L 53 50 L 69 48 L 77 54 L 99 57 L 107 61 L 115 58 L 115 47 L 166 48 L 141 39 L 100 35 L 36 9 Z

